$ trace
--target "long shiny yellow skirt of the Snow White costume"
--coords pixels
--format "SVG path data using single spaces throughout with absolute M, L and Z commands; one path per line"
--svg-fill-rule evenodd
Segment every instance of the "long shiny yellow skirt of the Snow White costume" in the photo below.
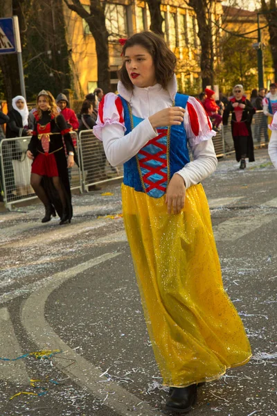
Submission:
M 165 196 L 122 185 L 123 218 L 145 320 L 164 385 L 213 381 L 243 365 L 251 347 L 224 291 L 211 216 L 201 184 L 180 214 Z

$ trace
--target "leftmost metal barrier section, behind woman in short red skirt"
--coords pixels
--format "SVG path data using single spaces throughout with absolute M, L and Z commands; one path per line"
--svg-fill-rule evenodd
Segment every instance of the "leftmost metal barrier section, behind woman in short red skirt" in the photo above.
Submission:
M 71 136 L 75 149 L 79 153 L 78 135 L 72 132 Z M 3 190 L 3 202 L 10 211 L 12 206 L 19 202 L 37 198 L 30 186 L 32 161 L 26 156 L 29 142 L 30 136 L 0 141 L 1 189 Z M 69 171 L 69 180 L 71 190 L 80 189 L 82 191 L 80 169 L 76 164 Z

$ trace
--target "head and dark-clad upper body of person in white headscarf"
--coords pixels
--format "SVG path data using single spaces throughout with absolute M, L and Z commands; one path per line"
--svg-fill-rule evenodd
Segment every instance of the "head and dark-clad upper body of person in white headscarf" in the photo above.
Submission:
M 28 114 L 25 98 L 23 96 L 12 98 L 12 110 L 8 112 L 10 121 L 6 128 L 7 139 L 32 135 L 33 125 L 30 122 Z

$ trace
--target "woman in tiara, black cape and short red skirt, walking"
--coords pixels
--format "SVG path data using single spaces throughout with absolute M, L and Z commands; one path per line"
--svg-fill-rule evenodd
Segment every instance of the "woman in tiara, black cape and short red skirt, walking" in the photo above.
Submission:
M 59 114 L 53 95 L 44 89 L 37 96 L 34 116 L 35 128 L 27 156 L 33 159 L 30 184 L 45 207 L 42 223 L 50 221 L 55 211 L 60 216 L 60 225 L 70 223 L 73 210 L 68 168 L 74 165 L 74 160 L 77 163 L 70 128 Z

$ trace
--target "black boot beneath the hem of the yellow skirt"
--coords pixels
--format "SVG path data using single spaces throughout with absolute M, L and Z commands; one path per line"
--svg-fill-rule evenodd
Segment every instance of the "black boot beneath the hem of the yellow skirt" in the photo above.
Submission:
M 192 384 L 188 387 L 173 387 L 170 389 L 172 389 L 172 393 L 166 402 L 166 410 L 182 414 L 190 412 L 197 399 L 197 385 Z

